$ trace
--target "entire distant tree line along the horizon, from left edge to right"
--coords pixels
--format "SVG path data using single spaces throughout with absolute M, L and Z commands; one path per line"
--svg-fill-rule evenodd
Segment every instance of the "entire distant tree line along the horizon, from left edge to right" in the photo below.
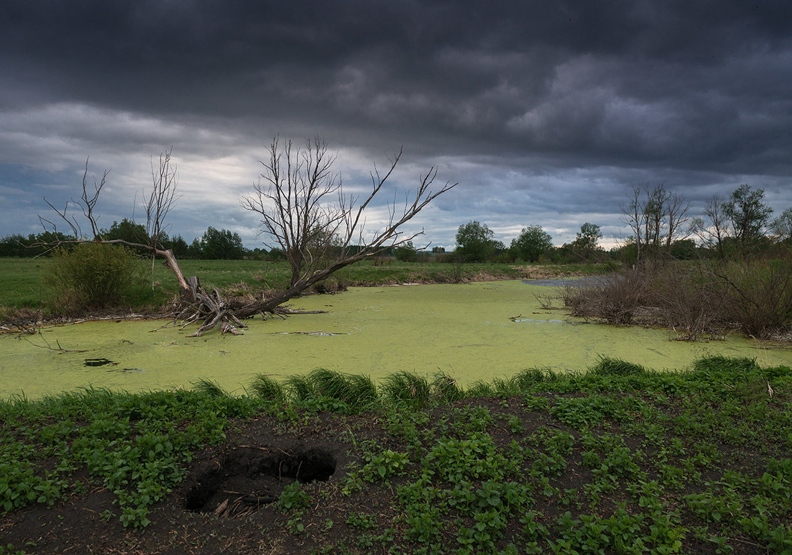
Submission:
M 495 240 L 494 232 L 486 224 L 471 220 L 459 226 L 453 251 L 433 247 L 431 254 L 421 253 L 412 242 L 407 242 L 383 251 L 383 255 L 406 262 L 428 259 L 504 263 L 620 260 L 634 264 L 652 259 L 745 258 L 771 252 L 779 245 L 788 247 L 792 238 L 792 207 L 771 219 L 773 210 L 764 201 L 764 191 L 747 184 L 737 187 L 728 196 L 718 194 L 710 198 L 699 217 L 690 217 L 691 203 L 675 191 L 668 191 L 662 183 L 634 187 L 627 192 L 626 203 L 619 208 L 630 235 L 608 251 L 599 243 L 603 237 L 600 226 L 589 222 L 581 225 L 575 240 L 555 247 L 552 236 L 541 225 L 528 225 L 506 246 Z M 101 229 L 100 234 L 104 240 L 147 241 L 146 228 L 127 218 L 113 221 L 109 228 Z M 0 256 L 46 255 L 49 248 L 46 245 L 57 242 L 67 245 L 74 239 L 51 231 L 29 236 L 13 234 L 0 239 Z M 168 236 L 164 232 L 160 232 L 158 242 L 180 259 L 287 259 L 286 252 L 278 246 L 248 249 L 237 232 L 211 226 L 190 243 L 181 235 Z M 329 248 L 332 249 L 332 245 Z

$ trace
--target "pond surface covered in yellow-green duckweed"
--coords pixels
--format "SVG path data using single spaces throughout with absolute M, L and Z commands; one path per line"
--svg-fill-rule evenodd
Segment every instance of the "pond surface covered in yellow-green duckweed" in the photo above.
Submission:
M 535 296 L 551 291 L 521 281 L 352 288 L 293 301 L 292 308 L 326 314 L 249 320 L 249 329 L 237 337 L 213 330 L 188 338 L 194 328 L 155 330 L 164 324 L 159 321 L 80 323 L 25 338 L 4 334 L 0 398 L 89 386 L 191 387 L 201 378 L 238 394 L 257 374 L 283 378 L 318 367 L 374 379 L 402 370 L 445 372 L 465 384 L 524 368 L 583 370 L 600 356 L 657 369 L 685 368 L 713 354 L 792 365 L 792 350 L 763 349 L 735 336 L 676 342 L 666 330 L 581 323 L 540 307 Z M 47 343 L 85 352 L 58 353 L 44 348 Z

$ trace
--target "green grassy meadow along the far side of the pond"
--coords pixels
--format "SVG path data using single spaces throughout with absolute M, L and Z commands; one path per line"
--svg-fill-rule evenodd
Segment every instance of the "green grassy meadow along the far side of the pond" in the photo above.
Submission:
M 86 249 L 92 246 L 82 247 Z M 99 249 L 105 248 L 98 246 Z M 119 247 L 109 247 L 111 250 Z M 113 254 L 112 252 L 110 253 Z M 93 260 L 86 259 L 86 264 Z M 52 267 L 55 259 L 0 258 L 0 323 L 16 319 L 51 318 L 58 315 L 89 315 L 101 313 L 96 304 L 65 304 L 64 300 L 79 300 L 75 289 L 65 289 L 66 280 L 54 280 Z M 173 274 L 162 268 L 161 262 L 153 265 L 150 259 L 137 259 L 134 274 L 124 283 L 112 308 L 105 312 L 115 315 L 136 313 L 162 313 L 169 300 L 178 294 L 178 284 Z M 152 275 L 152 266 L 154 274 Z M 261 296 L 268 291 L 285 289 L 290 271 L 286 264 L 259 260 L 184 260 L 186 275 L 200 275 L 204 289 L 220 289 L 224 297 Z M 613 264 L 566 264 L 509 266 L 494 263 L 440 263 L 400 262 L 390 258 L 357 262 L 338 270 L 333 277 L 314 285 L 316 293 L 335 293 L 346 287 L 367 285 L 397 285 L 401 283 L 455 283 L 460 281 L 485 281 L 520 279 L 524 277 L 558 277 L 607 273 Z M 143 273 L 141 284 L 140 273 Z M 51 274 L 48 279 L 45 274 Z M 76 272 L 74 279 L 78 279 Z M 59 275 L 59 274 L 57 274 Z M 51 285 L 48 285 L 49 284 Z

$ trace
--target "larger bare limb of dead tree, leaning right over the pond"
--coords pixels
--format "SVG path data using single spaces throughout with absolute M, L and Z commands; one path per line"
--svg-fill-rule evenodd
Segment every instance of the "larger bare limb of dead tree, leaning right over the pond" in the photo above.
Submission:
M 429 168 L 413 194 L 406 196 L 404 206 L 397 208 L 396 202 L 391 203 L 386 225 L 366 237 L 367 209 L 383 191 L 402 157 L 402 149 L 389 159 L 386 172 L 381 174 L 375 166 L 370 174 L 371 191 L 365 198 L 345 196 L 341 176 L 331 169 L 336 157 L 328 153 L 321 138 L 307 141 L 304 148 L 275 138 L 267 154 L 268 160 L 261 162 L 265 168 L 261 176 L 267 186 L 254 185 L 253 193 L 240 202 L 245 210 L 261 217 L 261 231 L 286 252 L 291 286 L 268 300 L 238 309 L 239 317 L 272 311 L 344 266 L 420 236 L 422 230 L 408 233 L 402 231 L 402 225 L 457 184 L 445 183 L 432 190 L 437 168 Z

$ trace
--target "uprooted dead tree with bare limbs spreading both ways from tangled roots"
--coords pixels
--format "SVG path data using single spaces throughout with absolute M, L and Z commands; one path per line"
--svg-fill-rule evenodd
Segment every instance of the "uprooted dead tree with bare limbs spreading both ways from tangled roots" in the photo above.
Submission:
M 59 216 L 56 221 L 65 222 L 74 235 L 73 240 L 57 241 L 48 246 L 69 243 L 123 244 L 148 251 L 152 259 L 162 257 L 181 289 L 174 322 L 181 322 L 183 326 L 200 323 L 198 330 L 192 334 L 194 337 L 218 326 L 223 333 L 240 334 L 239 329 L 246 327 L 242 319 L 266 312 L 286 314 L 289 311 L 279 308 L 280 304 L 299 295 L 314 283 L 326 279 L 344 266 L 405 244 L 421 235 L 422 231 L 407 234 L 400 228 L 429 202 L 456 185 L 445 183 L 432 191 L 437 169 L 430 168 L 421 177 L 413 195 L 407 196 L 403 210 L 398 211 L 395 202 L 391 204 L 390 218 L 385 228 L 364 241 L 366 209 L 383 189 L 402 152 L 399 151 L 394 160 L 390 160 L 390 168 L 384 175 L 380 175 L 376 168 L 371 172 L 371 192 L 363 202 L 358 202 L 357 198 L 342 194 L 341 177 L 331 171 L 335 157 L 328 154 L 326 144 L 321 139 L 308 142 L 304 150 L 294 149 L 291 142 L 285 145 L 285 149 L 281 149 L 277 140 L 272 142 L 270 159 L 262 163 L 265 166 L 263 175 L 270 187 L 254 187 L 254 193 L 242 199 L 242 206 L 246 210 L 261 214 L 262 230 L 272 236 L 276 244 L 289 255 L 292 281 L 289 289 L 282 293 L 238 306 L 223 300 L 217 289 L 211 293 L 204 292 L 198 277 L 185 277 L 173 251 L 162 247 L 159 240 L 166 229 L 166 217 L 178 199 L 177 171 L 172 164 L 170 150 L 160 155 L 158 167 L 152 162 L 152 189 L 144 197 L 147 198 L 144 204 L 147 238 L 144 243 L 104 240 L 101 237 L 95 207 L 109 172 L 105 171 L 98 182 L 94 179 L 93 191 L 90 191 L 86 160 L 82 196 L 71 202 L 82 211 L 82 220 L 90 226 L 90 232 L 82 231 L 78 218 L 74 216 L 75 210 L 70 211 L 69 202 L 63 210 L 59 210 L 45 198 L 44 202 Z M 329 202 L 331 198 L 336 198 L 336 202 Z M 41 216 L 39 219 L 45 229 L 58 232 L 53 221 Z

